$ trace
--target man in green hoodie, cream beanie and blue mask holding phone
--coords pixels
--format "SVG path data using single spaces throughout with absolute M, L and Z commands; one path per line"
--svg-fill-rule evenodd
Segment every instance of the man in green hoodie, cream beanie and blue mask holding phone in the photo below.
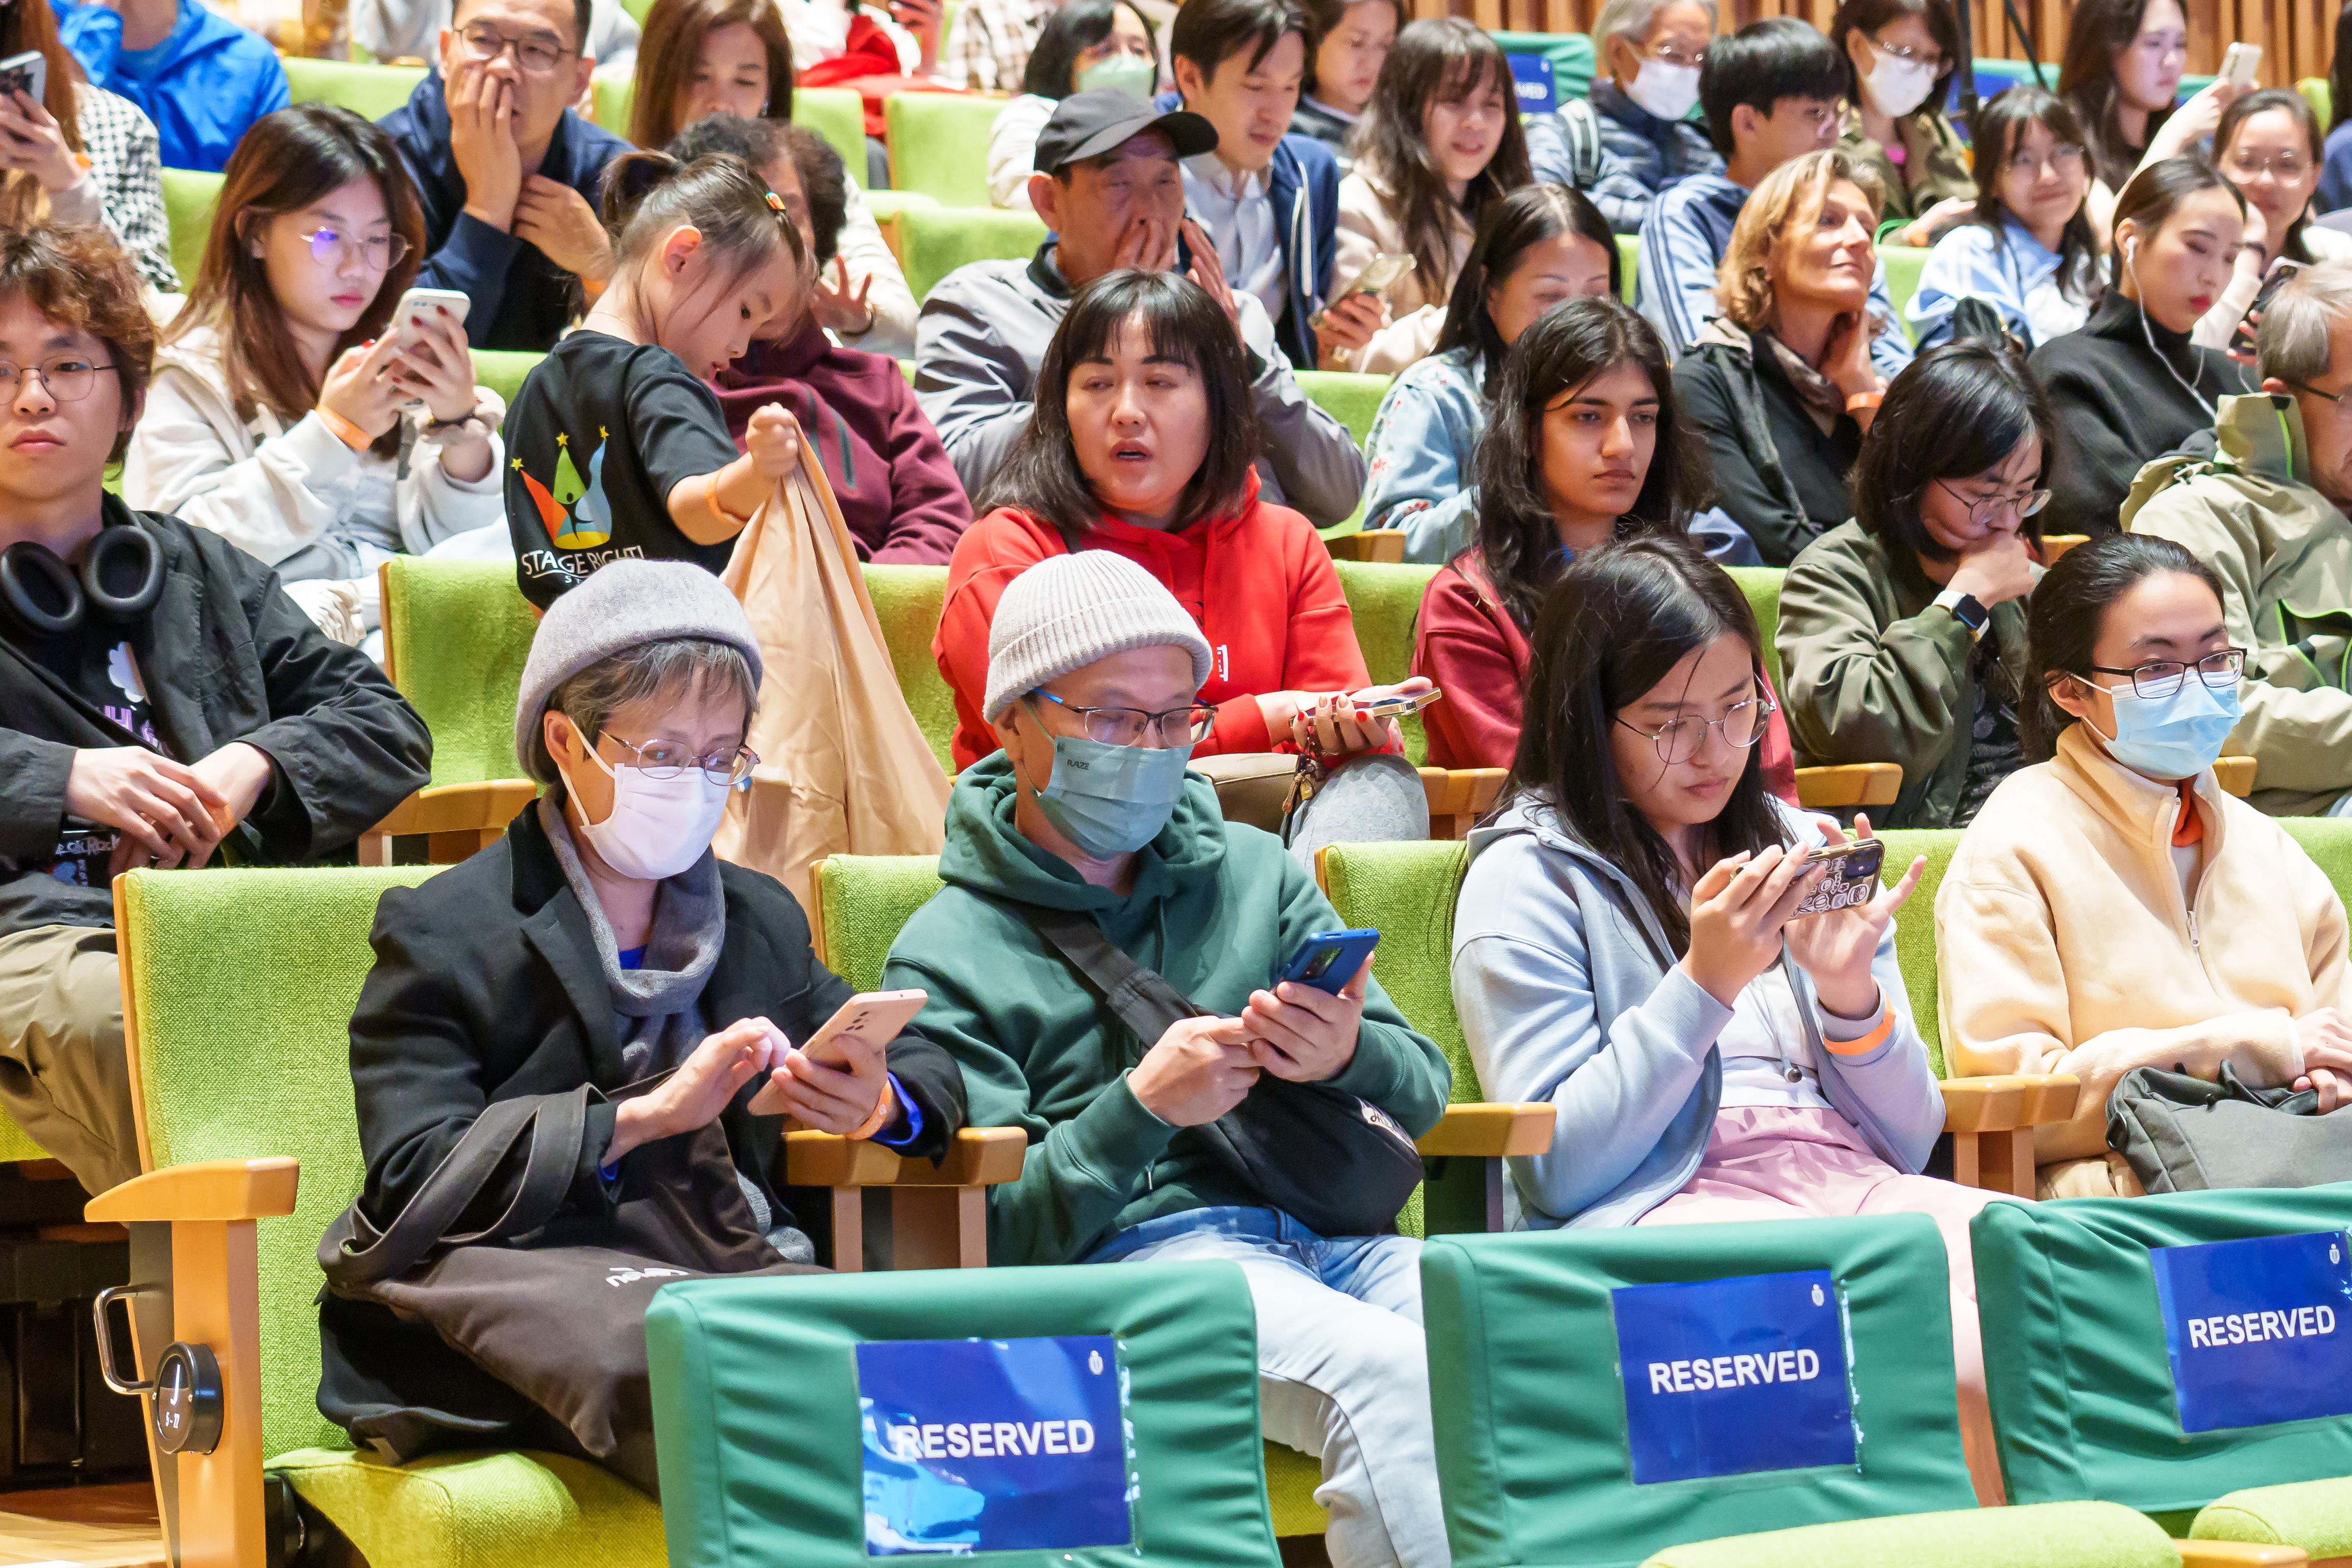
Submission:
M 1418 1135 L 1451 1072 L 1369 966 L 1336 997 L 1275 983 L 1338 917 L 1279 839 L 1228 825 L 1185 773 L 1207 677 L 1200 628 L 1134 562 L 1080 550 L 1023 571 L 988 635 L 983 717 L 1004 750 L 955 780 L 948 886 L 898 933 L 884 985 L 929 992 L 924 1034 L 964 1067 L 971 1126 L 1028 1128 L 1021 1180 L 988 1194 L 993 1258 L 1237 1262 L 1265 1436 L 1322 1460 L 1331 1563 L 1446 1568 L 1421 1244 L 1308 1229 L 1207 1124 L 1272 1074 Z M 1204 1016 L 1141 1039 L 1037 929 L 1056 914 L 1091 917 Z

